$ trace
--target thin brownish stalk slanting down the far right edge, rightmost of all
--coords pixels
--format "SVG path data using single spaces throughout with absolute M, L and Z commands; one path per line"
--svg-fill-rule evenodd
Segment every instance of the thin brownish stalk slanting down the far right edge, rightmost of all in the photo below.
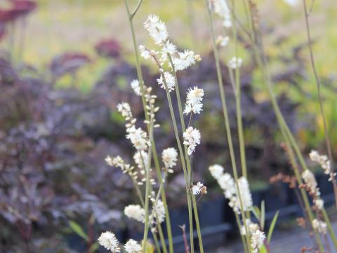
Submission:
M 312 51 L 312 39 L 311 39 L 311 34 L 310 34 L 310 25 L 309 25 L 309 20 L 308 20 L 308 8 L 306 1 L 303 0 L 303 8 L 304 8 L 304 18 L 305 18 L 305 30 L 307 31 L 307 37 L 308 37 L 308 48 L 310 52 L 310 63 L 312 67 L 312 72 L 314 72 L 315 75 L 315 81 L 316 81 L 316 86 L 317 86 L 317 93 L 318 93 L 318 99 L 319 99 L 319 109 L 321 110 L 321 115 L 323 119 L 323 126 L 324 126 L 324 136 L 325 136 L 325 142 L 326 142 L 326 149 L 328 150 L 328 155 L 329 155 L 329 160 L 331 162 L 331 172 L 330 172 L 330 179 L 331 183 L 333 186 L 333 194 L 335 195 L 335 205 L 337 207 L 337 183 L 336 183 L 336 178 L 334 176 L 334 169 L 333 169 L 333 160 L 332 160 L 332 152 L 331 152 L 331 144 L 329 140 L 329 133 L 328 133 L 328 128 L 326 126 L 326 116 L 324 113 L 324 108 L 323 108 L 323 102 L 322 102 L 322 95 L 321 95 L 321 80 L 318 77 L 316 66 L 315 66 L 315 60 L 314 60 L 314 53 Z

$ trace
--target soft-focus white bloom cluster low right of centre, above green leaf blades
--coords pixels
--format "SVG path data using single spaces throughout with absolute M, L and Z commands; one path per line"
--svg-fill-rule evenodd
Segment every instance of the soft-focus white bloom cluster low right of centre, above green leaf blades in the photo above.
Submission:
M 232 207 L 234 212 L 239 214 L 241 210 L 241 205 L 239 201 L 238 189 L 232 176 L 230 176 L 230 174 L 228 173 L 223 173 L 224 169 L 219 164 L 214 164 L 213 166 L 210 166 L 209 171 L 211 172 L 214 179 L 218 181 L 220 188 L 223 189 L 225 197 L 230 200 L 230 207 Z M 249 183 L 247 179 L 242 176 L 241 178 L 239 178 L 238 185 L 244 212 L 249 211 L 253 206 L 251 190 L 249 190 Z

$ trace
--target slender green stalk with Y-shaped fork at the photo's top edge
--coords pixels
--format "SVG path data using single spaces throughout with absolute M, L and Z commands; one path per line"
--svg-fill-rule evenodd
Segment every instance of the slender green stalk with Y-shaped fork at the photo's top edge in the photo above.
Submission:
M 134 30 L 134 27 L 133 27 L 134 15 L 136 15 L 136 13 L 137 13 L 138 9 L 140 8 L 140 5 L 142 4 L 142 2 L 143 2 L 143 0 L 139 0 L 135 11 L 133 11 L 133 14 L 131 15 L 130 8 L 128 7 L 128 1 L 124 0 L 124 4 L 126 6 L 126 12 L 128 14 L 129 25 L 130 25 L 130 28 L 131 28 L 133 48 L 134 48 L 135 56 L 136 56 L 136 70 L 137 70 L 137 75 L 138 75 L 138 79 L 139 79 L 139 82 L 140 82 L 140 90 L 141 90 L 141 93 L 142 93 L 143 108 L 144 108 L 144 112 L 146 112 L 146 102 L 145 102 L 145 97 L 144 97 L 144 79 L 143 79 L 143 73 L 142 73 L 142 70 L 141 70 L 141 67 L 140 67 L 138 46 L 137 46 L 137 42 L 136 42 L 135 30 Z M 147 119 L 147 120 L 149 119 L 149 116 L 146 113 L 145 113 L 145 119 Z M 149 129 L 147 129 L 147 130 L 148 130 L 148 132 L 150 132 Z M 158 180 L 161 181 L 162 180 L 161 179 L 161 169 L 160 169 L 160 166 L 159 166 L 157 148 L 156 148 L 156 144 L 155 144 L 155 141 L 154 141 L 153 133 L 152 133 L 152 136 L 150 136 L 150 141 L 151 141 L 151 148 L 152 148 L 152 153 L 153 153 L 154 165 L 155 165 L 155 168 L 156 168 L 156 171 L 157 171 Z M 170 220 L 169 207 L 167 205 L 164 188 L 161 190 L 161 200 L 163 201 L 165 213 L 166 213 L 165 219 L 166 219 L 166 230 L 167 230 L 167 235 L 168 235 L 168 239 L 169 239 L 169 252 L 173 253 L 171 220 Z

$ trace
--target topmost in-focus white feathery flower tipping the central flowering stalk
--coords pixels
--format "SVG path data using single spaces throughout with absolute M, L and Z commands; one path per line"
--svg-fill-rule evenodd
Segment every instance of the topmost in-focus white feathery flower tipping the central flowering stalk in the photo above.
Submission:
M 149 15 L 144 22 L 144 28 L 149 32 L 150 37 L 152 37 L 156 44 L 160 45 L 164 43 L 167 37 L 169 37 L 165 23 L 159 20 L 157 15 Z

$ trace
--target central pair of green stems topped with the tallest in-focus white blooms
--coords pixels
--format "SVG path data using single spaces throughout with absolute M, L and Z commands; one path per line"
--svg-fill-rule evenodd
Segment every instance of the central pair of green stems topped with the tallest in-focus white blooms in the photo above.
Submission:
M 169 109 L 173 124 L 173 130 L 176 136 L 176 141 L 178 145 L 178 150 L 180 154 L 181 164 L 183 166 L 183 172 L 185 176 L 185 185 L 187 191 L 187 205 L 189 211 L 189 222 L 190 222 L 190 249 L 191 252 L 194 252 L 194 243 L 193 243 L 193 215 L 197 228 L 197 235 L 199 239 L 199 249 L 200 252 L 204 252 L 201 238 L 201 231 L 199 226 L 199 215 L 197 212 L 197 202 L 193 195 L 193 185 L 192 185 L 192 153 L 194 152 L 195 147 L 200 143 L 200 133 L 199 130 L 194 129 L 192 126 L 189 126 L 187 129 L 185 127 L 185 119 L 183 117 L 183 106 L 180 100 L 178 79 L 176 77 L 176 71 L 185 70 L 187 67 L 194 65 L 197 60 L 201 58 L 197 55 L 194 55 L 194 52 L 185 50 L 178 52 L 176 46 L 169 41 L 169 34 L 166 30 L 166 25 L 164 22 L 159 20 L 156 15 L 150 15 L 144 23 L 144 28 L 152 37 L 154 44 L 157 45 L 156 50 L 148 49 L 145 46 L 141 45 L 140 55 L 145 59 L 150 59 L 152 62 L 157 65 L 159 69 L 159 79 L 157 82 L 162 89 L 166 91 L 166 98 L 169 103 Z M 159 51 L 157 51 L 159 50 Z M 171 70 L 164 70 L 164 68 Z M 172 74 L 173 72 L 173 74 Z M 180 134 L 178 131 L 178 125 L 176 122 L 176 116 L 173 109 L 173 103 L 171 100 L 171 91 L 176 90 L 176 96 L 178 100 L 178 110 L 180 114 L 180 122 L 183 129 L 183 143 L 180 141 Z M 201 100 L 204 96 L 204 91 L 198 88 L 190 89 L 187 93 L 187 105 L 185 112 L 194 112 L 199 113 L 201 111 L 202 105 Z M 184 146 L 184 148 L 183 148 Z M 206 192 L 204 192 L 206 193 Z M 192 208 L 193 206 L 193 208 Z

